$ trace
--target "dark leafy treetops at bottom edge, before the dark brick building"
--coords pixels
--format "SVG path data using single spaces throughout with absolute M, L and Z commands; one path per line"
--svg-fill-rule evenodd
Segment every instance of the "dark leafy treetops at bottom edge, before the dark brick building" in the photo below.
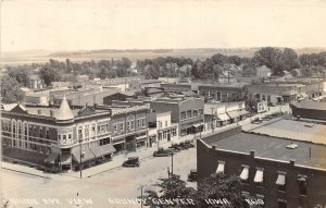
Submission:
M 145 199 L 146 206 L 150 208 L 213 208 L 213 207 L 242 207 L 240 181 L 238 176 L 228 176 L 225 174 L 212 174 L 209 178 L 198 182 L 198 191 L 192 187 L 187 187 L 186 182 L 178 176 L 173 175 L 168 179 L 161 179 L 160 183 L 155 186 L 160 187 L 159 193 L 154 191 L 146 191 Z M 154 199 L 177 199 L 177 198 L 191 198 L 193 204 L 187 205 L 156 205 Z M 229 204 L 213 205 L 208 204 L 205 199 L 223 199 L 226 198 Z

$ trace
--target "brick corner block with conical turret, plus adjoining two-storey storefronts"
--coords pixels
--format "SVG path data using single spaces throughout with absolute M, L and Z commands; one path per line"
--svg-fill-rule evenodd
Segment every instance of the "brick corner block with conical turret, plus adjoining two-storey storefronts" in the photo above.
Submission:
M 60 170 L 92 166 L 147 140 L 148 108 L 3 105 L 3 156 Z M 135 127 L 136 126 L 136 127 Z

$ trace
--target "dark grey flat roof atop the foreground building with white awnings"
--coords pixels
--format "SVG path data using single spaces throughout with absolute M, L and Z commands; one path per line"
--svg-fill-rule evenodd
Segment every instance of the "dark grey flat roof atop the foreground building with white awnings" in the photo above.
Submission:
M 203 140 L 205 142 L 204 138 Z M 206 144 L 210 146 L 216 145 L 216 149 L 221 150 L 238 151 L 243 154 L 249 154 L 250 150 L 254 150 L 254 157 L 281 160 L 286 162 L 294 159 L 296 164 L 326 169 L 326 146 L 324 145 L 243 132 L 220 139 L 216 138 L 214 142 Z M 291 144 L 298 145 L 297 148 L 287 148 L 287 146 Z

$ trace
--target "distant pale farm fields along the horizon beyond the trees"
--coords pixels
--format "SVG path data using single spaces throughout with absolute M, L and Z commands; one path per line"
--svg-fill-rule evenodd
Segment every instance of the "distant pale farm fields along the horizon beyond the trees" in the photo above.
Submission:
M 252 57 L 259 48 L 198 48 L 198 49 L 155 49 L 155 50 L 79 50 L 79 51 L 47 51 L 28 50 L 20 52 L 2 52 L 2 64 L 24 64 L 47 62 L 49 59 L 64 61 L 71 59 L 75 62 L 101 59 L 121 59 L 126 57 L 131 61 L 153 59 L 158 57 L 184 57 L 192 60 L 205 59 L 216 53 L 226 56 Z M 299 48 L 298 54 L 325 51 L 324 48 Z

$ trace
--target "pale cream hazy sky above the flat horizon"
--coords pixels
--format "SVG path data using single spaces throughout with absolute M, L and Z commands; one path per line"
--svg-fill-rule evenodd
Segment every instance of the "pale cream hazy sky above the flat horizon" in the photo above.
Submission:
M 326 47 L 326 0 L 2 0 L 1 50 Z

